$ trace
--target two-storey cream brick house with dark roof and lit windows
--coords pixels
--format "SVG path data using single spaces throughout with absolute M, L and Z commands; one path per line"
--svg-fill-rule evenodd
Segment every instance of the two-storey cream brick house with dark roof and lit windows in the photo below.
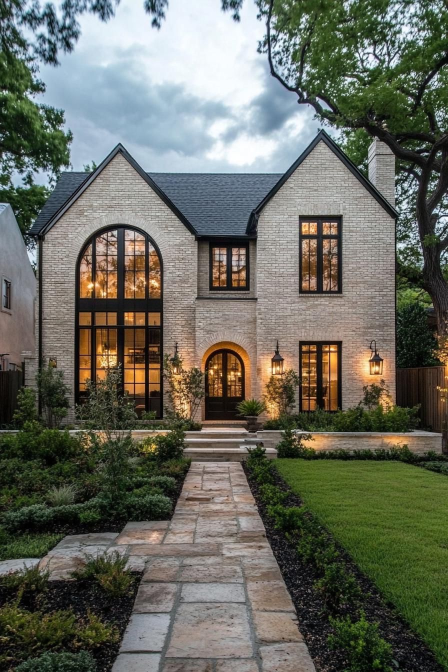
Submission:
M 122 364 L 138 410 L 163 413 L 163 353 L 206 373 L 205 419 L 261 398 L 277 339 L 298 407 L 356 405 L 372 339 L 395 390 L 394 157 L 367 180 L 324 132 L 284 175 L 146 173 L 122 145 L 63 173 L 38 237 L 42 361 L 71 404 Z

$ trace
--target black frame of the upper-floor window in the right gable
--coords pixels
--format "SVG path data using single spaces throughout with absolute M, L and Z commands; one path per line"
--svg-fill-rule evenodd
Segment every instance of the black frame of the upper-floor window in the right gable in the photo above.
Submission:
M 322 223 L 328 221 L 337 221 L 338 222 L 338 233 L 337 235 L 323 235 L 322 233 Z M 302 235 L 302 224 L 307 222 L 317 222 L 317 235 L 315 234 L 304 234 Z M 342 267 L 343 267 L 343 258 L 342 258 L 342 226 L 343 218 L 341 215 L 326 215 L 326 216 L 303 216 L 299 218 L 299 293 L 300 294 L 342 294 Z M 304 290 L 302 289 L 302 240 L 317 240 L 317 282 L 315 290 Z M 323 253 L 323 241 L 325 240 L 337 240 L 338 241 L 338 288 L 337 290 L 324 290 L 324 277 L 323 277 L 323 264 L 322 264 L 322 253 Z

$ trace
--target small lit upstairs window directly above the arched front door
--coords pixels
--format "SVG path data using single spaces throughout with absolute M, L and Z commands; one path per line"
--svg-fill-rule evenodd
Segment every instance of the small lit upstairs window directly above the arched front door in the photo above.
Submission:
M 249 290 L 249 245 L 210 243 L 210 290 Z

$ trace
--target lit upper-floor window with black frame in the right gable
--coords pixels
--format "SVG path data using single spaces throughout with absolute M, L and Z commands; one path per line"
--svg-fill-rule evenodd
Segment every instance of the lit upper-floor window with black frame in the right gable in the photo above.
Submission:
M 339 294 L 341 261 L 341 219 L 301 217 L 300 292 Z

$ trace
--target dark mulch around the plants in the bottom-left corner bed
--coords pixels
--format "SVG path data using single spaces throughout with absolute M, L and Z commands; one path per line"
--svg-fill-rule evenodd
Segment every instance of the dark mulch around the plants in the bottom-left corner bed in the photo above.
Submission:
M 50 581 L 48 583 L 48 591 L 39 593 L 38 595 L 36 593 L 24 595 L 20 605 L 30 611 L 39 609 L 46 613 L 72 609 L 79 619 L 87 616 L 87 611 L 90 610 L 93 614 L 99 616 L 104 623 L 116 626 L 120 632 L 120 637 L 116 644 L 104 644 L 103 646 L 93 648 L 89 652 L 97 661 L 98 672 L 109 672 L 118 655 L 120 642 L 128 624 L 138 584 L 140 583 L 141 574 L 136 572 L 132 574 L 134 575 L 134 583 L 124 596 L 111 597 L 111 595 L 101 589 L 96 581 L 79 579 L 76 581 Z M 16 593 L 15 589 L 0 588 L 0 606 L 7 601 L 13 600 Z M 64 650 L 71 649 L 70 647 L 65 647 Z M 76 650 L 73 649 L 73 652 L 76 653 Z M 6 653 L 6 651 L 2 650 L 0 644 L 1 653 Z M 13 665 L 14 663 L 12 663 Z

